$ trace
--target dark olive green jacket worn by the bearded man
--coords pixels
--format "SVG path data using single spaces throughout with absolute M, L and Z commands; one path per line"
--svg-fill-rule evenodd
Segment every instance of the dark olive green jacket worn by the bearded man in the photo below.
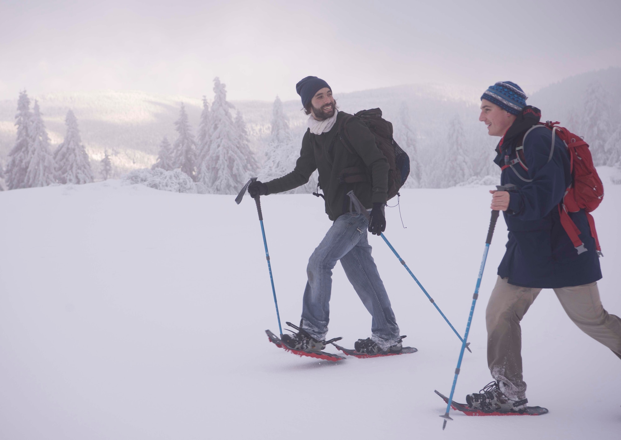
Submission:
M 347 193 L 353 190 L 366 208 L 373 203 L 386 203 L 388 192 L 388 160 L 375 144 L 375 137 L 358 118 L 347 121 L 347 134 L 355 151 L 350 152 L 340 138 L 338 127 L 346 113 L 338 112 L 334 127 L 320 135 L 307 130 L 302 138 L 302 149 L 296 168 L 291 173 L 266 182 L 268 194 L 289 191 L 309 181 L 315 169 L 319 170 L 319 184 L 324 190 L 325 212 L 330 220 L 336 220 L 345 212 L 350 212 Z M 364 181 L 345 183 L 342 171 L 358 167 L 365 170 Z

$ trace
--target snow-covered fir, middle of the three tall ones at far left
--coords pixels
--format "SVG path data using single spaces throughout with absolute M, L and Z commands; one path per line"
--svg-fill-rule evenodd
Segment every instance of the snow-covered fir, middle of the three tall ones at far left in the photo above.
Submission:
M 25 176 L 25 187 L 48 186 L 55 182 L 55 163 L 50 151 L 50 138 L 43 124 L 39 102 L 36 100 L 30 136 L 30 161 Z

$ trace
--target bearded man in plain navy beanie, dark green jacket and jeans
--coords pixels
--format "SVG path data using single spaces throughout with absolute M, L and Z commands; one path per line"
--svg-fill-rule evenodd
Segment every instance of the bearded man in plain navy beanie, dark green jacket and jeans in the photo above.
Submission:
M 252 197 L 289 191 L 306 184 L 319 171 L 324 190 L 325 212 L 332 227 L 312 253 L 307 266 L 308 281 L 302 302 L 302 320 L 297 333 L 284 334 L 282 341 L 291 349 L 321 351 L 325 347 L 330 315 L 332 268 L 341 262 L 347 278 L 371 313 L 371 337 L 358 339 L 356 351 L 374 356 L 402 351 L 399 326 L 392 312 L 384 284 L 371 257 L 367 231 L 380 235 L 386 228 L 384 205 L 388 192 L 388 159 L 379 150 L 373 133 L 358 118 L 337 110 L 332 89 L 323 79 L 307 76 L 296 84 L 304 112 L 309 115 L 308 130 L 302 139 L 296 167 L 286 176 L 248 186 Z M 347 125 L 350 151 L 339 135 Z M 345 170 L 358 171 L 356 176 Z M 351 212 L 347 195 L 353 191 L 371 221 L 360 212 Z

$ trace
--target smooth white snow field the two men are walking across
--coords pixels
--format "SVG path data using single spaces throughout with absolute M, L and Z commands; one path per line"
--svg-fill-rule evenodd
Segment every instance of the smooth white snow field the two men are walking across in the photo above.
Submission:
M 487 187 L 402 191 L 386 236 L 459 331 L 489 222 Z M 330 222 L 312 195 L 263 197 L 281 317 L 299 320 L 306 263 Z M 621 314 L 621 186 L 595 218 L 605 308 Z M 460 343 L 380 238 L 374 258 L 407 344 L 419 352 L 334 364 L 268 343 L 278 333 L 252 199 L 119 181 L 0 193 L 0 438 L 618 438 L 621 363 L 545 290 L 523 321 L 528 399 L 539 417 L 445 410 Z M 504 251 L 487 261 L 456 397 L 489 382 L 484 309 Z M 330 337 L 369 336 L 340 266 Z M 330 351 L 335 351 L 331 349 Z

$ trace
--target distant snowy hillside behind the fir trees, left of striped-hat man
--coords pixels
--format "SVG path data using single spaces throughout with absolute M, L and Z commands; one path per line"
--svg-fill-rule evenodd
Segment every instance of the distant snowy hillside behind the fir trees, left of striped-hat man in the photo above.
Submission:
M 465 120 L 473 119 L 477 92 L 471 88 L 431 84 L 337 93 L 335 97 L 344 111 L 381 107 L 387 119 L 396 119 L 402 103 L 406 102 L 420 136 L 428 138 L 434 131 L 442 130 L 445 119 L 453 114 L 461 114 Z M 206 96 L 211 101 L 211 93 Z M 178 117 L 181 102 L 196 130 L 201 112 L 199 98 L 155 96 L 138 91 L 32 96 L 39 101 L 53 146 L 62 141 L 65 114 L 72 109 L 91 159 L 101 160 L 107 149 L 116 155 L 116 166 L 126 169 L 150 166 L 155 162 L 161 138 L 175 138 L 173 122 Z M 6 158 L 14 143 L 16 102 L 0 101 L 0 158 Z M 261 153 L 263 141 L 270 133 L 272 102 L 232 103 L 247 122 L 251 147 Z M 301 111 L 300 102 L 287 101 L 283 106 L 294 135 L 301 137 L 306 131 L 307 116 Z

